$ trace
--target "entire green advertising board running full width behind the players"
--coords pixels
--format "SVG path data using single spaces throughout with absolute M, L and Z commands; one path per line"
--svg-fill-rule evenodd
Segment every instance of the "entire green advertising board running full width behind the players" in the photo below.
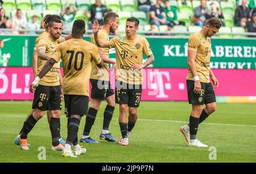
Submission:
M 89 40 L 89 37 L 84 37 Z M 0 36 L 0 66 L 32 66 L 36 36 Z M 188 39 L 147 38 L 155 56 L 151 67 L 187 68 Z M 210 67 L 256 69 L 256 40 L 212 39 Z M 110 58 L 115 52 L 110 49 Z M 6 62 L 5 60 L 8 60 Z M 146 57 L 145 57 L 146 59 Z

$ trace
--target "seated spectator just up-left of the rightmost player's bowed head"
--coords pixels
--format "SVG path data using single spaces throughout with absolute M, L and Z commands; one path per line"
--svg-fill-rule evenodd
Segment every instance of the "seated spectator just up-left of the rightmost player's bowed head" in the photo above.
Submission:
M 199 7 L 195 9 L 195 18 L 193 22 L 196 26 L 204 27 L 207 19 L 210 19 L 210 11 L 207 8 L 207 4 L 205 0 L 201 0 L 201 4 Z

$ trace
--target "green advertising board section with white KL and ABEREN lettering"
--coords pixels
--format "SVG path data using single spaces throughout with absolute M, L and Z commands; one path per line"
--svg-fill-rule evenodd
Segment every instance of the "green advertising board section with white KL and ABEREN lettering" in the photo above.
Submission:
M 187 67 L 188 39 L 150 39 L 154 67 Z M 212 39 L 210 67 L 256 69 L 256 40 Z

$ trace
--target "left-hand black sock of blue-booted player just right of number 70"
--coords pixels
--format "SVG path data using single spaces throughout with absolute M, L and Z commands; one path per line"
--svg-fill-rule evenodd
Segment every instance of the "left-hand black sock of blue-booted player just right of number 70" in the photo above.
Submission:
M 97 109 L 89 108 L 88 113 L 86 115 L 84 133 L 82 135 L 88 136 L 90 134 L 90 129 L 92 129 L 92 126 L 97 116 L 97 112 Z

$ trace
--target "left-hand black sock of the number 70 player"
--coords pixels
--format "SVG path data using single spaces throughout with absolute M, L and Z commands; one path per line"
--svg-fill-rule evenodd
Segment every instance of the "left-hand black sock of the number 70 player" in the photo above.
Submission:
M 75 141 L 77 136 L 77 132 L 79 130 L 80 120 L 77 118 L 71 118 L 70 124 L 68 126 L 68 137 L 67 137 L 67 144 L 72 145 Z

